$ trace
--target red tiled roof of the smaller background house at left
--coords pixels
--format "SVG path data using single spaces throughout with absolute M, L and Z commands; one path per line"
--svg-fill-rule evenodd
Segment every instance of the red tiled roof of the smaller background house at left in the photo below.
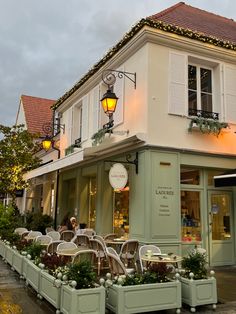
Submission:
M 55 100 L 22 95 L 21 102 L 27 130 L 30 133 L 40 133 L 44 136 L 42 127 L 44 123 L 52 123 L 53 110 L 51 107 Z

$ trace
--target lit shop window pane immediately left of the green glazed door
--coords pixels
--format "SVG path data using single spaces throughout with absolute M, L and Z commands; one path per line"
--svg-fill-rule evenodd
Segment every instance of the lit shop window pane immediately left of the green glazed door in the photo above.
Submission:
M 181 191 L 181 228 L 183 242 L 201 241 L 200 192 Z

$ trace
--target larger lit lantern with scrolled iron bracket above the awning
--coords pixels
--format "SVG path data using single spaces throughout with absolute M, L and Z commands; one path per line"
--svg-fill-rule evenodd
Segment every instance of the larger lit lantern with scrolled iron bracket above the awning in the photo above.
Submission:
M 109 117 L 109 122 L 103 125 L 103 129 L 106 129 L 107 132 L 110 132 L 111 128 L 114 125 L 113 113 L 116 110 L 116 105 L 118 97 L 113 92 L 113 86 L 116 82 L 116 78 L 126 77 L 134 83 L 134 88 L 136 89 L 136 73 L 130 73 L 125 71 L 117 71 L 107 69 L 102 73 L 102 80 L 108 86 L 107 92 L 103 95 L 101 99 L 102 108 L 105 114 Z

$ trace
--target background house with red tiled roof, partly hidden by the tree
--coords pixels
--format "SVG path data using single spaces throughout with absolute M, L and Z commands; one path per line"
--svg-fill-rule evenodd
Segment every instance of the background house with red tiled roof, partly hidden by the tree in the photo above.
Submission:
M 16 124 L 24 124 L 25 128 L 31 134 L 39 134 L 40 137 L 44 138 L 47 132 L 44 131 L 45 125 L 52 126 L 53 121 L 53 110 L 52 106 L 55 104 L 55 100 L 21 95 L 20 103 L 18 107 L 18 112 L 16 116 Z M 42 163 L 52 162 L 57 159 L 57 153 L 53 152 L 50 154 L 45 154 L 43 150 L 39 152 L 39 157 L 42 159 Z M 44 184 L 50 182 L 49 190 L 51 191 L 52 180 L 55 181 L 55 176 L 49 175 L 44 177 Z M 40 178 L 35 178 L 33 182 L 34 188 L 31 188 L 31 184 L 26 193 L 17 198 L 18 208 L 22 211 L 30 210 L 41 210 L 43 209 L 45 213 L 51 213 L 51 202 L 43 197 L 43 186 L 42 180 Z

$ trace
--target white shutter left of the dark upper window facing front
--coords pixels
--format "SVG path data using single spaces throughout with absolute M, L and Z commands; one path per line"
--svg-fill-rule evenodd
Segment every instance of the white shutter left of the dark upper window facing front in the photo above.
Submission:
M 187 56 L 170 53 L 169 113 L 187 115 Z

